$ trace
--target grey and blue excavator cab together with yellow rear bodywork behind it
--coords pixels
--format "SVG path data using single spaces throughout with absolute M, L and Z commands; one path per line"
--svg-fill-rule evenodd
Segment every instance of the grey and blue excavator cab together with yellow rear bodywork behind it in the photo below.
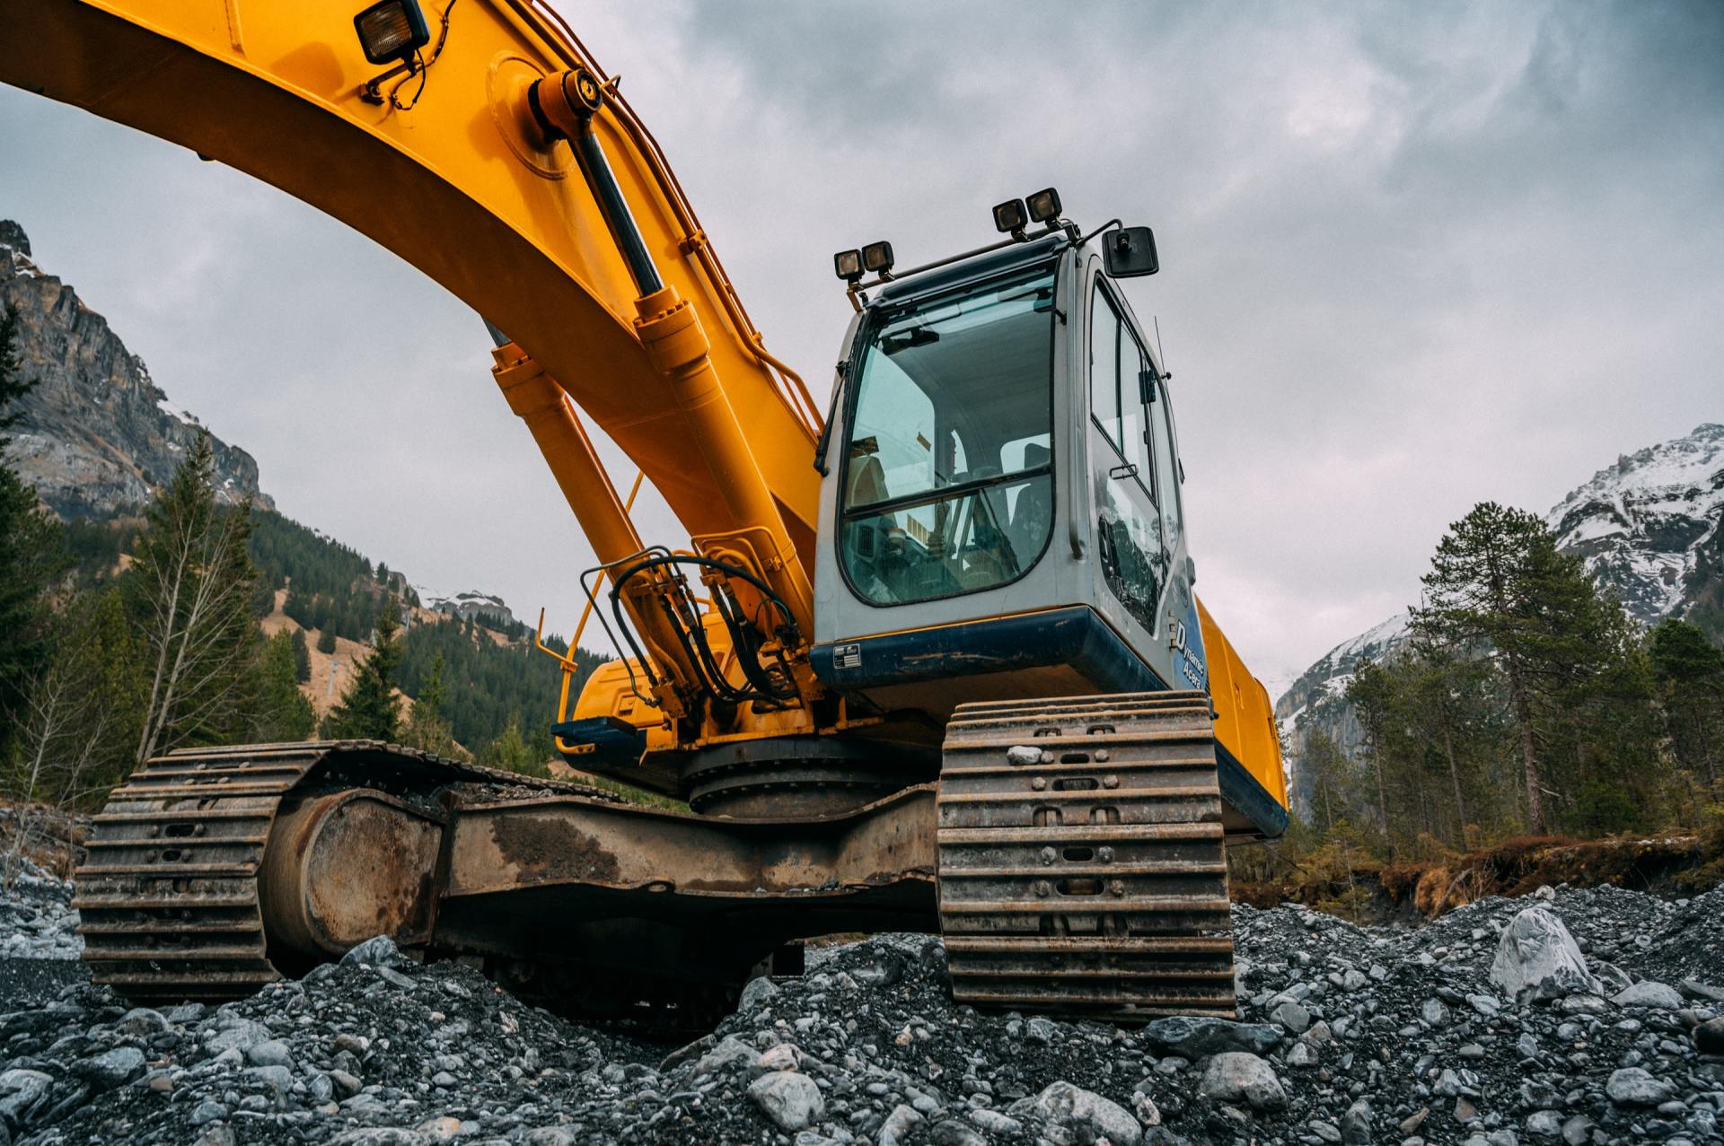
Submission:
M 1241 763 L 1277 760 L 1252 751 L 1267 696 L 1193 593 L 1167 374 L 1119 284 L 1153 269 L 1146 229 L 1062 224 L 852 284 L 814 669 L 934 726 L 969 701 L 1209 691 L 1229 832 L 1277 836 L 1279 775 Z

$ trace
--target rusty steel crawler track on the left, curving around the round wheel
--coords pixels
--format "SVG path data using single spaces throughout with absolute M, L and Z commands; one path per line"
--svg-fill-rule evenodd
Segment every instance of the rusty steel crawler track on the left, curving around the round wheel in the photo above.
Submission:
M 502 789 L 610 793 L 479 769 L 381 741 L 179 750 L 147 762 L 93 819 L 72 906 L 90 977 L 138 1001 L 245 998 L 281 972 L 267 956 L 257 875 L 283 798 L 319 763 Z M 365 786 L 362 781 L 359 784 Z

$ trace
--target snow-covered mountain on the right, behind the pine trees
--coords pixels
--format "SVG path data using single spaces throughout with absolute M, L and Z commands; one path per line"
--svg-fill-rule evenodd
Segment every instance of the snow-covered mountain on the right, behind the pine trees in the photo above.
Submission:
M 1641 624 L 1676 615 L 1724 636 L 1724 426 L 1707 422 L 1619 457 L 1545 520 L 1557 545 L 1581 555 L 1588 572 Z M 1409 589 L 1414 593 L 1417 588 Z M 1343 693 L 1360 660 L 1381 660 L 1407 641 L 1407 620 L 1402 612 L 1341 641 L 1276 701 L 1295 812 L 1310 810 L 1310 777 L 1300 757 L 1312 732 L 1326 732 L 1348 751 L 1359 746 L 1359 720 Z

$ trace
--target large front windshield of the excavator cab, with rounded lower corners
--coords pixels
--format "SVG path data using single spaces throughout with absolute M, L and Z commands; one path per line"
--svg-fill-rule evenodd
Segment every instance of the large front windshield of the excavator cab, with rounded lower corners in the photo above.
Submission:
M 1053 527 L 1053 265 L 886 310 L 853 377 L 852 588 L 898 605 L 1024 576 Z

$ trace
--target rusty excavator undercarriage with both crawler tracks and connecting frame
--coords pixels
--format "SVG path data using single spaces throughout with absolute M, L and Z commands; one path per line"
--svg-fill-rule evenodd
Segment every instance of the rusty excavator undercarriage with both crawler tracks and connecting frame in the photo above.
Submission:
M 767 789 L 874 794 L 769 765 Z M 176 751 L 95 819 L 76 906 L 93 977 L 140 1001 L 238 998 L 388 934 L 564 1012 L 695 1027 L 796 939 L 928 931 L 959 1001 L 1133 1020 L 1233 1013 L 1222 846 L 1209 698 L 1160 693 L 965 705 L 938 781 L 772 819 L 376 741 Z

